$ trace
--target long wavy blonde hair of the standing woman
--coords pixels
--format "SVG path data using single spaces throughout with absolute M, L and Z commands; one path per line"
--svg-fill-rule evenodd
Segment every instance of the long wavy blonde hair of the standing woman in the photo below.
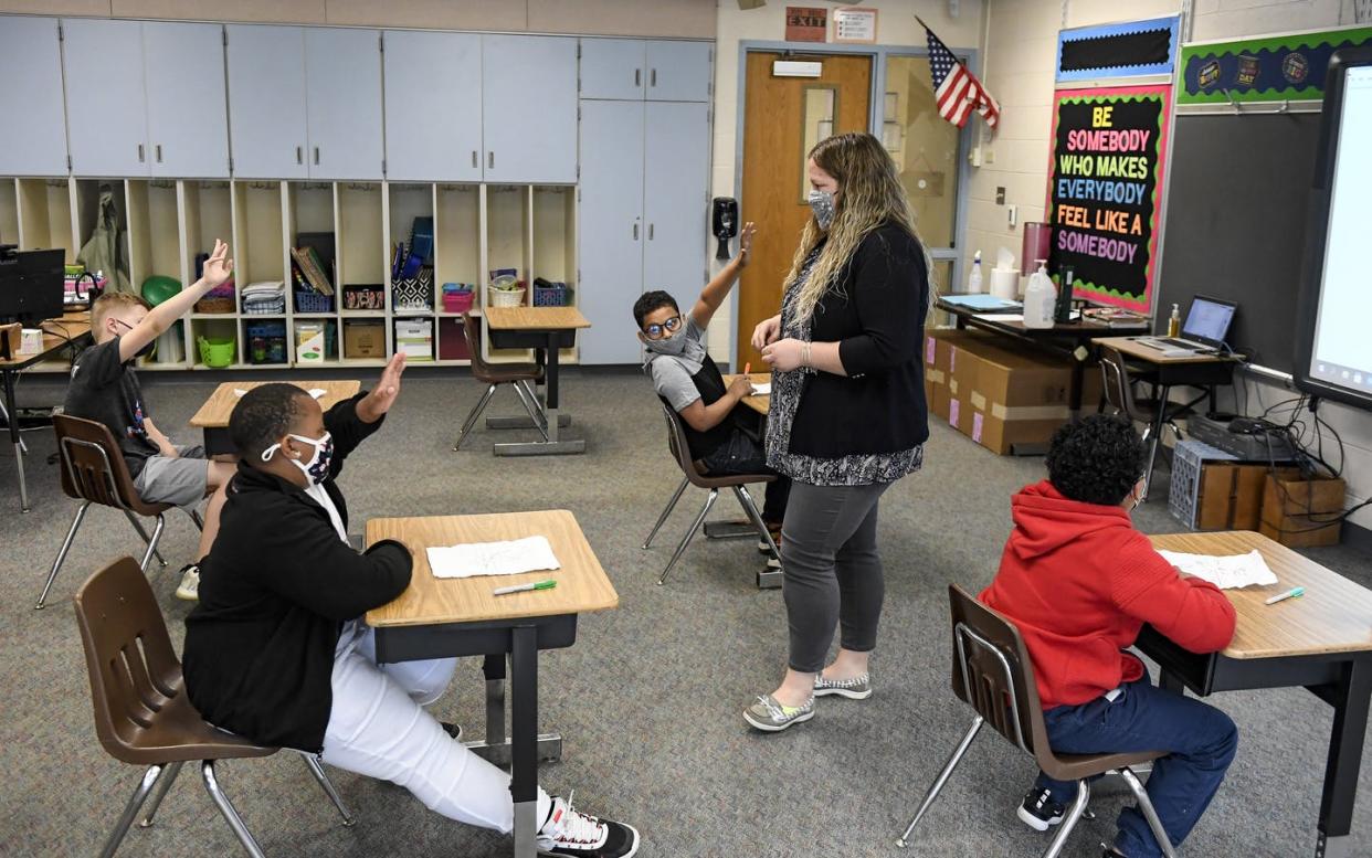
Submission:
M 906 188 L 900 184 L 900 171 L 881 141 L 871 134 L 834 134 L 815 144 L 808 158 L 834 177 L 841 196 L 827 230 L 820 229 L 815 215 L 811 214 L 800 234 L 800 245 L 790 262 L 785 289 L 800 277 L 805 259 L 826 233 L 829 243 L 819 252 L 809 277 L 800 289 L 796 302 L 797 319 L 804 322 L 814 315 L 825 293 L 838 288 L 844 269 L 852 262 L 862 240 L 886 222 L 900 226 L 919 244 L 925 255 L 925 270 L 929 273 L 929 296 L 933 300 L 933 263 L 915 230 L 915 215 L 910 210 Z

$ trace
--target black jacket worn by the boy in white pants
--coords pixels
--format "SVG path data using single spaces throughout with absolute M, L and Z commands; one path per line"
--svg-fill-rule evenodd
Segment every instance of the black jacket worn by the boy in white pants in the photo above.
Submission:
M 350 452 L 381 421 L 364 424 L 357 400 L 324 415 L 333 484 Z M 344 620 L 386 604 L 410 583 L 410 552 L 383 541 L 358 554 L 328 511 L 294 482 L 247 463 L 229 485 L 220 535 L 200 563 L 200 602 L 185 620 L 185 687 L 206 721 L 258 744 L 324 747 L 333 706 L 333 650 Z

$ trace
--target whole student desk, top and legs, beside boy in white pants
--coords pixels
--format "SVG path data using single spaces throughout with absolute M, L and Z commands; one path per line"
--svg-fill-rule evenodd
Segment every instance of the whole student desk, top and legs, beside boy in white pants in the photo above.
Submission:
M 425 548 L 546 536 L 561 569 L 517 576 L 435 578 Z M 376 659 L 403 662 L 484 655 L 486 740 L 468 743 L 495 763 L 510 763 L 514 855 L 534 858 L 539 820 L 538 758 L 561 757 L 561 737 L 538 735 L 538 651 L 569 647 L 576 615 L 619 606 L 595 552 L 567 510 L 494 515 L 373 518 L 366 544 L 401 540 L 410 548 L 410 585 L 390 604 L 366 613 L 376 630 Z M 491 595 L 497 587 L 552 578 L 553 589 Z M 505 739 L 505 654 L 510 659 L 510 739 Z

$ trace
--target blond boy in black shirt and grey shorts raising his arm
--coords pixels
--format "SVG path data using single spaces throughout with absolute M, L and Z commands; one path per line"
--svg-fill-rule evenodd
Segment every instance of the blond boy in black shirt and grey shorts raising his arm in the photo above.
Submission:
M 204 528 L 196 562 L 181 567 L 178 599 L 193 602 L 200 587 L 199 561 L 210 552 L 220 530 L 224 487 L 233 477 L 232 462 L 210 461 L 203 447 L 173 444 L 152 422 L 133 362 L 152 351 L 162 336 L 195 302 L 233 273 L 229 245 L 215 240 L 200 280 L 156 307 L 128 292 L 108 292 L 91 304 L 91 345 L 71 365 L 64 411 L 108 426 L 123 452 L 133 488 L 145 503 L 193 507 L 206 495 Z

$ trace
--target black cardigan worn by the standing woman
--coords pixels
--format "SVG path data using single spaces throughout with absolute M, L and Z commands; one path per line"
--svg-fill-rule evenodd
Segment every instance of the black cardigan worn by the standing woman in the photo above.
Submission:
M 895 223 L 868 233 L 811 321 L 811 340 L 837 341 L 848 376 L 805 377 L 790 452 L 837 459 L 899 452 L 929 437 L 919 359 L 927 307 L 919 241 Z

